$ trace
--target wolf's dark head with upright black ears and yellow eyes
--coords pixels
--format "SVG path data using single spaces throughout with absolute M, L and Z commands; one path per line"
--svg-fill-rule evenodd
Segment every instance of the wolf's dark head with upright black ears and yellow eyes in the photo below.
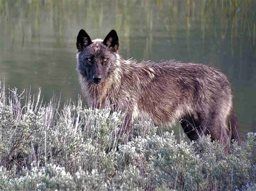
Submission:
M 116 68 L 118 57 L 117 32 L 111 30 L 104 40 L 91 40 L 82 29 L 77 36 L 78 72 L 94 84 L 104 82 Z

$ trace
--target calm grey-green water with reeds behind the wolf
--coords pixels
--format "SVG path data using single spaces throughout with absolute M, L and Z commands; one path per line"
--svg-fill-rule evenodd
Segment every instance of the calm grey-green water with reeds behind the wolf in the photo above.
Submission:
M 256 1 L 0 0 L 0 81 L 42 88 L 44 101 L 81 94 L 76 36 L 115 29 L 123 58 L 218 68 L 232 83 L 241 136 L 256 131 Z

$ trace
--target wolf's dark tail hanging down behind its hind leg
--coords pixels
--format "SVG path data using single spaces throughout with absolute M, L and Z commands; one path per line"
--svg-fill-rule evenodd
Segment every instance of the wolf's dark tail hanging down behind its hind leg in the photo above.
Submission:
M 235 110 L 233 106 L 230 110 L 230 114 L 228 115 L 227 120 L 228 120 L 227 125 L 228 125 L 228 129 L 230 130 L 231 140 L 232 139 L 236 140 L 240 145 L 241 139 L 239 137 L 239 125 L 237 122 L 237 115 L 235 115 Z

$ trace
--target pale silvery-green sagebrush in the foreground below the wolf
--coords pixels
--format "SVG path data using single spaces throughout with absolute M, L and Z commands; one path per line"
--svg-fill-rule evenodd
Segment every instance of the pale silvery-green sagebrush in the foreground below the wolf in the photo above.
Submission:
M 0 189 L 255 189 L 256 133 L 225 154 L 209 137 L 177 142 L 147 121 L 130 140 L 114 136 L 122 118 L 2 87 Z

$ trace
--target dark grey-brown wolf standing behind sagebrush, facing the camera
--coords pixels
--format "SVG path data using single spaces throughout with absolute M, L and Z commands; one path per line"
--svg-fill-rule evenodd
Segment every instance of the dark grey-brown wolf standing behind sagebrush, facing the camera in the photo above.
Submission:
M 231 84 L 218 70 L 173 60 L 124 60 L 114 30 L 104 40 L 91 40 L 82 29 L 76 46 L 82 93 L 93 108 L 124 111 L 123 133 L 131 132 L 138 116 L 147 116 L 157 126 L 179 120 L 191 141 L 210 135 L 223 144 L 240 143 Z

